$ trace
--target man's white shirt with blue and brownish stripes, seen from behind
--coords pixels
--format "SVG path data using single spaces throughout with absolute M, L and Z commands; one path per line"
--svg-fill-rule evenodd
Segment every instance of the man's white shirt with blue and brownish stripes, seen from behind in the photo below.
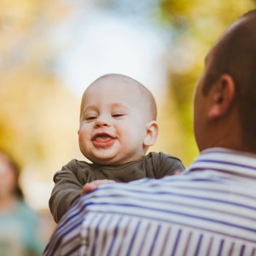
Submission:
M 181 175 L 104 184 L 76 201 L 44 255 L 256 256 L 256 157 L 212 148 Z

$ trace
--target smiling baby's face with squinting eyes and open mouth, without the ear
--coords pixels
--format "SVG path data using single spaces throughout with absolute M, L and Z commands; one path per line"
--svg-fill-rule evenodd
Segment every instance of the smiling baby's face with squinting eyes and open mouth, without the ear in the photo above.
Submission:
M 137 86 L 128 83 L 102 79 L 84 93 L 79 147 L 94 163 L 119 165 L 145 154 L 147 105 Z

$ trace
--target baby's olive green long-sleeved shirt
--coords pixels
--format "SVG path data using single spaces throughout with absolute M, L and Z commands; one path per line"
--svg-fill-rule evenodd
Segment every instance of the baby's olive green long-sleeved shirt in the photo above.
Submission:
M 81 160 L 71 160 L 61 171 L 55 172 L 55 187 L 49 198 L 49 210 L 55 222 L 81 195 L 85 183 L 97 179 L 111 179 L 127 183 L 144 177 L 160 178 L 184 170 L 181 160 L 171 154 L 151 152 L 143 160 L 120 166 L 96 165 Z

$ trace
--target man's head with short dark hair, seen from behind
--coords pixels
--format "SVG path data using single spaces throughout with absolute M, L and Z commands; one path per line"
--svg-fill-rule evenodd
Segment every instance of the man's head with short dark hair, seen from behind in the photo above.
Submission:
M 256 153 L 256 11 L 236 20 L 207 55 L 195 90 L 194 128 L 200 150 Z

